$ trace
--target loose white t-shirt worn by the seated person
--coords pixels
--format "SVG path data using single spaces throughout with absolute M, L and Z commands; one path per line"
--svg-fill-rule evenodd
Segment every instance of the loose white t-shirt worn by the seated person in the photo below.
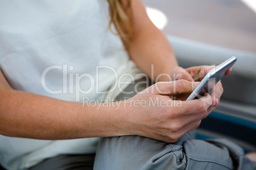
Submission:
M 101 102 L 106 96 L 101 92 L 113 86 L 115 76 L 139 72 L 108 22 L 106 0 L 0 1 L 1 70 L 14 89 Z M 25 169 L 60 154 L 94 153 L 96 146 L 97 138 L 48 141 L 0 135 L 0 164 Z

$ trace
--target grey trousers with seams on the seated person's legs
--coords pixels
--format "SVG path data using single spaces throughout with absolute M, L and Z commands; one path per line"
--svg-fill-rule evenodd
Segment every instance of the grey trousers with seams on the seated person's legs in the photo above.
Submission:
M 144 87 L 143 87 L 144 86 Z M 131 91 L 132 85 L 125 91 Z M 146 88 L 140 84 L 141 89 Z M 133 93 L 131 96 L 136 95 Z M 124 100 L 127 95 L 119 95 Z M 225 139 L 195 140 L 194 131 L 184 134 L 176 143 L 121 136 L 101 138 L 94 169 L 256 169 L 256 163 L 245 157 L 243 149 Z

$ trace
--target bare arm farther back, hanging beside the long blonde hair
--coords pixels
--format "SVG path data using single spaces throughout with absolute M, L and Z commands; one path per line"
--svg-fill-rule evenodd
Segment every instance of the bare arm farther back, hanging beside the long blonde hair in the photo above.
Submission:
M 148 18 L 141 1 L 132 1 L 131 8 L 132 15 L 127 15 L 132 17 L 132 36 L 127 49 L 132 60 L 154 81 L 168 81 L 167 76 L 161 76 L 158 80 L 157 77 L 170 75 L 171 70 L 178 66 L 170 43 Z

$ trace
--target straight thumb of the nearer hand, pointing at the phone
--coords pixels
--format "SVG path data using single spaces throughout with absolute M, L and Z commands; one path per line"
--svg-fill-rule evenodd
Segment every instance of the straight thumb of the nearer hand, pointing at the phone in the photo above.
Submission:
M 190 82 L 186 80 L 157 82 L 154 84 L 155 94 L 174 95 L 192 93 L 199 82 Z

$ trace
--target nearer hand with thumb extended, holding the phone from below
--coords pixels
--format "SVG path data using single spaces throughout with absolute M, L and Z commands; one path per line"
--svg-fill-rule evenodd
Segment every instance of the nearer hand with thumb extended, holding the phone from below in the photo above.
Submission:
M 208 93 L 197 100 L 172 100 L 170 95 L 191 93 L 199 82 L 186 80 L 157 82 L 129 100 L 121 101 L 127 135 L 139 135 L 173 143 L 196 129 L 210 114 L 212 98 Z

